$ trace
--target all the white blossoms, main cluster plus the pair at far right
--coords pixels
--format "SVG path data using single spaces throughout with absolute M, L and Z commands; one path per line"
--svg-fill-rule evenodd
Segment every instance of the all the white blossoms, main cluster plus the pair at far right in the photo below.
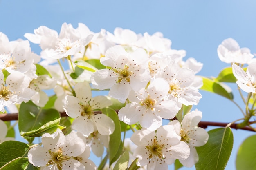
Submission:
M 88 159 L 90 150 L 97 157 L 104 154 L 115 123 L 102 113 L 112 100 L 93 97 L 92 89 L 107 90 L 111 98 L 124 104 L 117 110 L 119 120 L 131 128 L 137 125 L 130 139 L 137 146 L 133 151 L 137 166 L 167 170 L 176 159 L 187 167 L 198 162 L 195 147 L 203 146 L 209 138 L 206 130 L 198 127 L 202 112 L 195 109 L 180 120 L 174 119 L 182 107 L 197 105 L 202 98 L 198 90 L 202 79 L 196 75 L 202 63 L 194 58 L 184 61 L 186 51 L 171 49 L 171 40 L 162 33 L 136 34 L 121 28 L 114 33 L 104 29 L 94 33 L 85 24 L 79 23 L 75 29 L 64 23 L 60 33 L 40 26 L 24 36 L 40 45 L 40 55 L 31 52 L 28 40 L 9 41 L 0 33 L 0 110 L 5 112 L 13 104 L 29 100 L 44 107 L 49 101 L 45 90 L 53 89 L 54 109 L 72 118 L 70 134 L 65 136 L 59 129 L 45 133 L 43 146 L 29 150 L 29 161 L 34 166 L 96 169 Z M 230 57 L 233 53 L 237 60 Z M 249 49 L 240 49 L 233 39 L 222 42 L 218 55 L 222 61 L 236 64 L 248 64 L 253 57 Z M 99 60 L 101 68 L 87 62 L 94 59 Z M 68 62 L 66 70 L 61 60 Z M 246 73 L 236 64 L 233 69 L 238 85 L 255 93 L 255 62 Z M 40 73 L 40 67 L 47 74 Z M 163 119 L 172 121 L 163 124 Z

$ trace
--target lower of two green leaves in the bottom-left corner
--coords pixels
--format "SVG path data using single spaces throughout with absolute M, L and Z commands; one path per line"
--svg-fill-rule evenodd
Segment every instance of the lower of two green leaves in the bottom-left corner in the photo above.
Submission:
M 8 162 L 0 168 L 0 170 L 27 170 L 29 159 L 26 157 L 18 157 Z

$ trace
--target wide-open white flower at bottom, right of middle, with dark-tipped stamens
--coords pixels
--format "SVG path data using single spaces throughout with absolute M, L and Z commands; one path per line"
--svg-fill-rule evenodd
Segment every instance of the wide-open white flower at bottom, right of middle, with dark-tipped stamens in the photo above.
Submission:
M 175 159 L 189 157 L 189 146 L 180 139 L 171 125 L 161 126 L 157 132 L 146 128 L 136 131 L 131 140 L 138 146 L 133 154 L 138 158 L 137 165 L 147 165 L 147 170 L 168 170 Z

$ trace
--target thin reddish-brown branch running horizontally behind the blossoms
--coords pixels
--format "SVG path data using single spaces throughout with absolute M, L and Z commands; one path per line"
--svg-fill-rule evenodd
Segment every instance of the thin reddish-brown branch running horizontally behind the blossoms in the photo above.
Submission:
M 116 110 L 118 112 L 118 110 Z M 100 111 L 96 111 L 96 113 L 101 113 Z M 60 112 L 61 117 L 67 117 L 68 115 L 65 112 Z M 174 118 L 175 119 L 175 118 Z M 3 121 L 11 121 L 11 120 L 18 120 L 18 113 L 11 113 L 11 114 L 0 114 L 0 120 Z M 250 123 L 250 122 L 249 122 Z M 207 126 L 220 126 L 220 127 L 226 127 L 227 124 L 229 123 L 221 123 L 221 122 L 212 122 L 212 121 L 200 121 L 198 126 L 202 127 L 202 128 L 207 128 Z M 229 126 L 230 128 L 233 129 L 238 129 L 237 128 L 238 124 L 231 124 L 231 126 Z M 249 126 L 245 126 L 243 128 L 240 128 L 242 130 L 248 130 L 248 131 L 253 131 L 255 132 L 255 130 Z

